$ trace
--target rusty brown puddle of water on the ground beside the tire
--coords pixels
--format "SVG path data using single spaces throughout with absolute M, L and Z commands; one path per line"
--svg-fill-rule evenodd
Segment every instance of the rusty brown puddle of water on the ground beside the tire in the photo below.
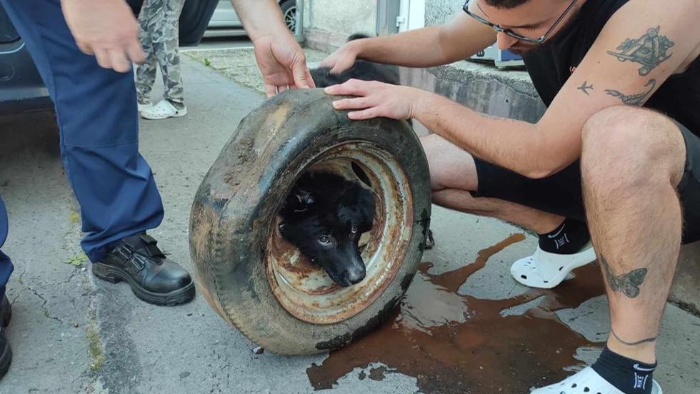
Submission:
M 400 308 L 376 332 L 331 352 L 321 365 L 306 370 L 316 390 L 332 388 L 355 368 L 382 363 L 360 379 L 381 380 L 384 373 L 417 379 L 423 393 L 528 393 L 555 383 L 563 368 L 580 363 L 576 349 L 595 345 L 561 323 L 554 312 L 576 308 L 604 293 L 599 268 L 589 264 L 576 278 L 552 290 L 531 289 L 505 300 L 481 300 L 457 293 L 466 278 L 484 268 L 489 257 L 522 241 L 514 234 L 479 252 L 474 263 L 434 275 L 421 263 Z M 541 297 L 524 315 L 501 310 Z

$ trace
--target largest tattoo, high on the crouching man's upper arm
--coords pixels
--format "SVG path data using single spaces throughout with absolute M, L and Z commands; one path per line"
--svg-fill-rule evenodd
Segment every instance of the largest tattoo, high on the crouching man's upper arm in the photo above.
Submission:
M 671 54 L 666 54 L 666 51 L 675 45 L 666 36 L 659 34 L 659 29 L 661 26 L 652 27 L 639 39 L 626 39 L 617 47 L 617 51 L 608 51 L 608 54 L 622 62 L 629 60 L 641 64 L 639 75 L 645 76 L 671 57 Z

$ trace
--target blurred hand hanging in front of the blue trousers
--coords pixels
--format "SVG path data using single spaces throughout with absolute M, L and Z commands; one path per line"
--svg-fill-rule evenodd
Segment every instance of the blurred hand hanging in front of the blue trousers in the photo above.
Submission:
M 61 0 L 61 9 L 78 48 L 104 69 L 126 73 L 131 62 L 144 61 L 139 24 L 126 1 Z

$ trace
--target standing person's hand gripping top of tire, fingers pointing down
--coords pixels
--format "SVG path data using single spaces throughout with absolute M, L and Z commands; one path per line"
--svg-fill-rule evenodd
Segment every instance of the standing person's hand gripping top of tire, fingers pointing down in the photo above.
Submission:
M 316 87 L 306 66 L 306 55 L 286 27 L 256 39 L 253 46 L 268 97 L 287 89 Z

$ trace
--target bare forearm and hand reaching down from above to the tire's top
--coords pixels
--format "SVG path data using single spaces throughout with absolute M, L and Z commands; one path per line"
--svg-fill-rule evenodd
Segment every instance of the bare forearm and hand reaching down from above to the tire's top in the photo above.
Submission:
M 273 96 L 288 88 L 313 88 L 306 56 L 287 29 L 274 0 L 231 0 L 255 49 L 255 59 Z

